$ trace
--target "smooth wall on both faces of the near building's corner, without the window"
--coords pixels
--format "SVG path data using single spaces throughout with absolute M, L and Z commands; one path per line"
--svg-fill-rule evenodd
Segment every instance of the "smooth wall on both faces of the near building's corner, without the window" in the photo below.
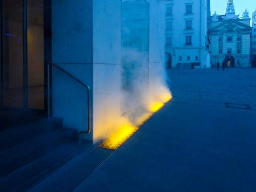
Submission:
M 98 141 L 121 119 L 122 0 L 56 0 L 52 3 L 52 58 L 92 88 L 93 128 L 84 139 Z M 150 4 L 149 83 L 164 79 L 164 12 L 158 0 Z M 156 92 L 156 87 L 151 90 Z M 149 94 L 147 92 L 146 94 Z M 129 99 L 126 97 L 126 99 Z M 84 130 L 86 89 L 53 68 L 53 116 L 64 126 Z M 128 100 L 129 101 L 129 100 Z M 141 101 L 144 102 L 144 101 Z

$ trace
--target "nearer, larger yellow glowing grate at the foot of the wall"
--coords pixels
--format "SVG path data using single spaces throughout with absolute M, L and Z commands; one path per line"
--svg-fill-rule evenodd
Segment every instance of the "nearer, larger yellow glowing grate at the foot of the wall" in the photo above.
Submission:
M 105 140 L 100 147 L 116 150 L 122 145 L 130 136 L 138 130 L 134 125 L 126 123 L 119 129 L 113 132 L 107 140 Z

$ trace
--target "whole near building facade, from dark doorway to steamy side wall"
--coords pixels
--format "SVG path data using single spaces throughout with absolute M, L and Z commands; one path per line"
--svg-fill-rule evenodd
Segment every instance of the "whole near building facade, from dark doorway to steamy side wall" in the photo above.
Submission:
M 97 141 L 122 114 L 135 121 L 157 97 L 156 82 L 164 82 L 164 4 L 158 0 L 0 5 L 1 110 L 58 117 L 65 127 L 89 130 L 84 140 Z

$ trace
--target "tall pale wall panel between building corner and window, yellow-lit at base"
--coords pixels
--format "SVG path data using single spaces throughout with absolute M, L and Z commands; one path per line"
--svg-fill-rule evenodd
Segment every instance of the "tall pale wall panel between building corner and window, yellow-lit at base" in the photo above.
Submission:
M 93 0 L 93 138 L 108 135 L 121 108 L 121 0 Z

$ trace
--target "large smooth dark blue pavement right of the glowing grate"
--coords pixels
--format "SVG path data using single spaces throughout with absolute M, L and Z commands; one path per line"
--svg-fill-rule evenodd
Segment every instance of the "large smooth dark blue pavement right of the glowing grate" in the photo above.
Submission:
M 256 111 L 174 98 L 76 192 L 255 192 Z

